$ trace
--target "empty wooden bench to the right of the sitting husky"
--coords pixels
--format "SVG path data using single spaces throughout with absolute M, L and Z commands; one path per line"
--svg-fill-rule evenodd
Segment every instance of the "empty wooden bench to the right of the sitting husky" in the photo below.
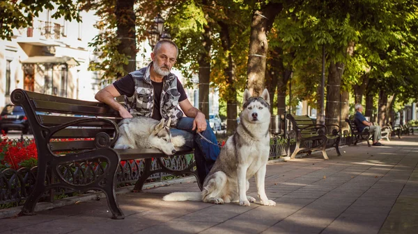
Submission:
M 294 159 L 297 152 L 301 150 L 320 150 L 323 157 L 328 159 L 327 147 L 328 140 L 334 140 L 331 147 L 335 147 L 338 156 L 341 156 L 339 151 L 339 142 L 341 139 L 341 129 L 338 125 L 330 124 L 325 126 L 323 124 L 314 124 L 308 115 L 286 115 L 286 118 L 291 122 L 293 131 L 295 131 L 296 147 L 291 158 Z M 329 133 L 328 127 L 332 127 Z M 331 129 L 331 128 L 330 128 Z

